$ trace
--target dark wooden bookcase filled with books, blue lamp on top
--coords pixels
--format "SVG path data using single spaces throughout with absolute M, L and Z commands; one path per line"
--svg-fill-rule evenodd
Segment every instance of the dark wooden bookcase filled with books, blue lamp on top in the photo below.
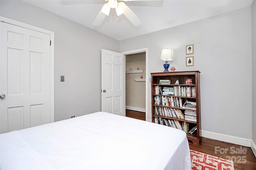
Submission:
M 186 84 L 187 79 L 192 84 Z M 170 80 L 170 84 L 160 84 L 160 80 Z M 200 71 L 151 73 L 151 105 L 152 122 L 182 129 L 188 140 L 200 145 Z M 190 134 L 193 127 L 196 131 Z

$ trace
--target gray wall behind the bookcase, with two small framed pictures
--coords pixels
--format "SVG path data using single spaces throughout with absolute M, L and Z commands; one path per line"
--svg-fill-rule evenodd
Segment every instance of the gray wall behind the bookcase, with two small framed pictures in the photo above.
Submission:
M 202 130 L 252 139 L 251 32 L 247 7 L 120 41 L 120 51 L 148 47 L 150 73 L 163 71 L 161 49 L 172 48 L 174 61 L 169 63 L 176 71 L 201 71 Z M 190 44 L 194 44 L 194 66 L 186 67 L 185 47 Z M 148 103 L 150 89 L 148 83 Z

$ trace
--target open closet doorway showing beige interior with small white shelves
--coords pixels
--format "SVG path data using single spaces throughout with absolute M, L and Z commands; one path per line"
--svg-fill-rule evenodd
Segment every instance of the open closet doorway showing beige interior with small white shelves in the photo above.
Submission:
M 124 103 L 128 114 L 126 116 L 149 121 L 147 119 L 148 48 L 122 53 L 124 54 L 124 68 L 126 70 L 124 79 L 126 100 Z

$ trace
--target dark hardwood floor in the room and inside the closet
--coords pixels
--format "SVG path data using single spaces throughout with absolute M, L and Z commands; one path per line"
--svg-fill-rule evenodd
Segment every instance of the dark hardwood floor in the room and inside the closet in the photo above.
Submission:
M 146 120 L 145 113 L 139 111 L 126 110 L 126 116 Z M 244 147 L 205 137 L 202 137 L 201 145 L 195 145 L 189 142 L 189 147 L 190 149 L 198 152 L 233 160 L 235 170 L 256 170 L 256 158 L 250 147 Z

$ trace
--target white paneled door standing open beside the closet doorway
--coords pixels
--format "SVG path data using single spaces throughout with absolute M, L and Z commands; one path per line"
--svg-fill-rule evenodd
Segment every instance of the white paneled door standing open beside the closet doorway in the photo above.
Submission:
M 101 88 L 102 111 L 124 116 L 123 54 L 101 50 Z

